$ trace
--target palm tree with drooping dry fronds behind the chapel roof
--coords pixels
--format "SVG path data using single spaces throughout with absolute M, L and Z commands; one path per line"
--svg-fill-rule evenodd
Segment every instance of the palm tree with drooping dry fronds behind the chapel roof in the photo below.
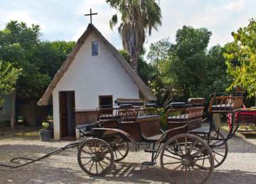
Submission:
M 142 52 L 146 32 L 161 25 L 161 9 L 155 0 L 106 0 L 122 15 L 118 31 L 124 50 L 131 57 L 131 66 L 137 71 L 137 58 Z M 110 28 L 117 24 L 117 14 L 110 19 Z

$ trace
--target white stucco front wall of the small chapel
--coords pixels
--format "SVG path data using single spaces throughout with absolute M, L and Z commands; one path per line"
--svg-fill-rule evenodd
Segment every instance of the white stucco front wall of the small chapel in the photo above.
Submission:
M 99 41 L 99 55 L 92 57 L 92 41 Z M 59 91 L 75 91 L 75 110 L 94 110 L 98 96 L 139 98 L 139 88 L 95 33 L 82 45 L 68 71 L 53 90 L 53 120 L 55 139 L 60 138 Z

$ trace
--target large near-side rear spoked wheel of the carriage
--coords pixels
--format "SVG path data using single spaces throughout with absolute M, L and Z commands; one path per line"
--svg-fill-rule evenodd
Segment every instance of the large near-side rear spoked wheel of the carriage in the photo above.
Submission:
M 161 170 L 170 183 L 206 183 L 214 168 L 210 147 L 193 134 L 178 134 L 161 149 Z

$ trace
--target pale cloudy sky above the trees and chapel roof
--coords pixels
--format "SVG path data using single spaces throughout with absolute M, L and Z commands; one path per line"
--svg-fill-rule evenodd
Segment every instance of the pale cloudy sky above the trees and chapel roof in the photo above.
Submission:
M 175 42 L 176 30 L 183 25 L 207 28 L 213 35 L 209 47 L 233 40 L 231 32 L 256 18 L 255 0 L 160 0 L 162 25 L 146 37 L 146 48 L 152 42 L 169 38 Z M 77 41 L 90 23 L 85 13 L 97 12 L 92 23 L 117 49 L 122 42 L 117 26 L 110 29 L 109 20 L 116 11 L 105 0 L 0 0 L 0 29 L 11 20 L 41 26 L 42 40 Z

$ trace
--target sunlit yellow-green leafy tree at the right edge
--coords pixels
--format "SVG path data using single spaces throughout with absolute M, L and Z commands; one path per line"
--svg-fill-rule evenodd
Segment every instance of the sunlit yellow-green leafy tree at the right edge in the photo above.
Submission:
M 242 86 L 250 97 L 256 96 L 256 20 L 232 33 L 234 41 L 225 45 L 225 59 L 228 74 L 233 77 L 234 86 Z

